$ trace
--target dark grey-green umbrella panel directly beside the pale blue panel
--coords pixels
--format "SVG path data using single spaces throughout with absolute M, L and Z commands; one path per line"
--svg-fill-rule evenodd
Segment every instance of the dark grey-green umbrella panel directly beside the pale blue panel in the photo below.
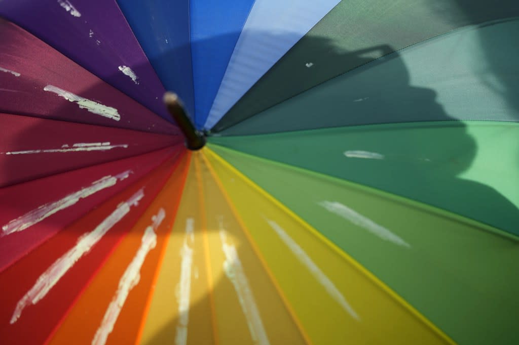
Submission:
M 385 4 L 379 1 L 369 1 L 368 3 L 365 1 L 340 2 L 229 110 L 226 117 L 215 125 L 213 131 L 222 131 L 256 113 L 260 113 L 305 90 L 378 59 L 392 51 L 398 51 L 459 27 L 514 16 L 519 16 L 519 4 L 513 0 L 500 2 L 498 5 L 488 4 L 484 1 L 469 2 L 465 0 L 434 3 L 429 1 L 399 1 Z M 474 51 L 474 48 L 479 48 L 476 50 L 477 55 L 472 56 L 472 58 L 476 62 L 477 60 L 485 61 L 486 67 L 490 71 L 476 70 L 472 71 L 472 73 L 479 74 L 483 79 L 487 79 L 486 73 L 496 74 L 500 78 L 505 77 L 508 82 L 510 79 L 507 79 L 506 73 L 502 75 L 503 69 L 501 69 L 501 62 L 506 61 L 508 56 L 507 53 L 501 53 L 501 50 L 517 52 L 516 47 L 510 45 L 510 42 L 514 41 L 517 36 L 517 31 L 514 29 L 514 31 L 508 33 L 501 32 L 501 34 L 506 35 L 504 37 L 489 36 L 487 33 L 488 31 L 476 31 L 473 33 L 474 36 L 479 37 L 473 38 L 475 41 L 472 42 L 471 51 Z M 458 37 L 458 39 L 458 44 L 462 46 L 467 44 L 467 42 L 461 41 L 461 37 Z M 463 39 L 467 38 L 463 37 Z M 441 51 L 433 53 L 434 55 L 439 54 L 439 56 L 442 54 Z M 443 59 L 449 59 L 450 53 L 450 51 L 443 52 Z M 430 62 L 430 59 L 426 59 L 426 61 Z M 514 61 L 514 59 L 509 59 L 509 61 Z M 419 76 L 427 74 L 428 70 L 424 64 L 420 65 L 420 62 L 423 61 L 416 61 L 415 63 L 415 65 L 418 64 L 422 68 L 418 74 Z M 444 62 L 436 61 L 435 64 Z M 471 61 L 471 63 L 474 62 Z M 510 63 L 507 63 L 506 66 L 510 66 Z M 507 68 L 504 68 L 504 70 L 506 71 Z M 415 71 L 413 70 L 412 72 Z M 458 76 L 457 82 L 464 82 L 459 74 L 456 73 L 455 75 Z M 413 81 L 413 75 L 411 75 L 411 78 L 411 81 Z M 514 102 L 514 84 L 500 85 L 502 82 L 493 80 L 493 78 L 489 76 L 488 81 L 497 83 L 499 85 L 497 90 L 504 93 L 503 96 L 508 98 L 509 102 Z M 405 74 L 399 76 L 397 81 L 405 82 Z M 376 79 L 376 82 L 377 84 L 387 83 L 388 80 L 382 78 Z M 480 82 L 480 85 L 481 87 L 489 88 L 484 82 Z M 431 87 L 433 86 L 438 85 L 431 84 Z M 485 94 L 485 97 L 496 97 L 492 93 L 497 90 Z M 387 89 L 383 89 L 380 92 L 387 91 Z M 369 95 L 364 92 L 364 95 L 361 94 L 352 99 L 346 96 L 345 100 L 350 100 L 348 108 L 357 111 L 358 109 L 356 108 L 361 105 L 354 104 L 352 101 L 363 99 L 367 96 L 372 97 L 371 102 L 373 101 L 373 96 L 376 95 Z M 404 97 L 401 96 L 400 99 L 404 101 L 408 99 Z M 429 97 L 426 98 L 429 99 Z M 364 106 L 364 103 L 362 106 Z M 514 104 L 514 107 L 517 108 L 517 103 L 515 102 Z M 324 107 L 327 104 L 317 103 L 317 105 Z M 355 114 L 356 112 L 351 111 L 351 113 Z M 334 117 L 334 114 L 328 114 L 328 116 L 334 118 L 335 121 L 339 121 Z M 373 116 L 373 114 L 370 116 Z M 385 116 L 385 112 L 380 114 L 380 117 L 382 116 Z M 362 118 L 360 119 L 362 120 Z M 310 120 L 306 119 L 306 121 Z M 286 122 L 292 123 L 290 120 Z M 295 127 L 297 127 L 298 122 L 297 120 L 295 121 Z M 346 124 L 346 122 L 342 123 Z M 271 130 L 275 130 L 277 127 L 277 125 L 271 127 Z

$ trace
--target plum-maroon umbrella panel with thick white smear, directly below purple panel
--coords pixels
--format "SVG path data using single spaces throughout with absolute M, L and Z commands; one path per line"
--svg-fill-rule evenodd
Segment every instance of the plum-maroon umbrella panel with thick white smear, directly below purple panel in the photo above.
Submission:
M 133 99 L 19 26 L 0 20 L 0 111 L 177 134 Z

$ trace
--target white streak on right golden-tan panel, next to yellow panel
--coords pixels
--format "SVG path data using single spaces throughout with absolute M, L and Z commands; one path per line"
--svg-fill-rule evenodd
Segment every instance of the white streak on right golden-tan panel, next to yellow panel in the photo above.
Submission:
M 249 332 L 252 340 L 258 345 L 269 344 L 267 333 L 263 327 L 260 311 L 257 308 L 256 301 L 252 294 L 252 290 L 243 271 L 238 252 L 233 244 L 227 243 L 226 231 L 223 228 L 223 221 L 220 221 L 220 239 L 222 241 L 222 250 L 225 254 L 224 271 L 225 275 L 234 285 L 241 309 L 247 319 Z

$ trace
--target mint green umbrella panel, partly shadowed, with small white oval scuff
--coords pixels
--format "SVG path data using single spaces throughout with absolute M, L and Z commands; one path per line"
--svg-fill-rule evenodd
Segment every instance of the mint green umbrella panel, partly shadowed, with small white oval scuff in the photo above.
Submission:
M 210 142 L 405 196 L 519 236 L 519 123 L 395 123 Z

